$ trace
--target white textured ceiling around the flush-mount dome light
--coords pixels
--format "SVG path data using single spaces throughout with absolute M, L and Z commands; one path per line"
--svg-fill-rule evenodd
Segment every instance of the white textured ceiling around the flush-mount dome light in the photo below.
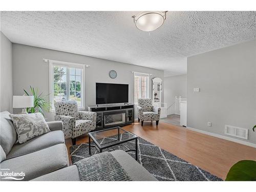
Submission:
M 1 12 L 1 30 L 18 44 L 186 73 L 186 57 L 255 38 L 256 12 L 167 12 L 150 33 L 139 12 Z

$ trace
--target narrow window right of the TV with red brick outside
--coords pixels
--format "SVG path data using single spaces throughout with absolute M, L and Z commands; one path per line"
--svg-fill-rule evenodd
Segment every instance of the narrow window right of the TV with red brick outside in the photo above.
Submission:
M 134 73 L 134 103 L 138 98 L 149 98 L 149 74 Z

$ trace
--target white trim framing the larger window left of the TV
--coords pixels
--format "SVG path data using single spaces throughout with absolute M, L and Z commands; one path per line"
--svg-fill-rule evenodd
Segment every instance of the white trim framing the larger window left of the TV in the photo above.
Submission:
M 44 59 L 45 61 L 48 60 L 49 61 L 49 101 L 51 103 L 52 109 L 50 110 L 50 112 L 55 112 L 54 109 L 54 99 L 53 99 L 53 93 L 54 93 L 54 86 L 53 86 L 53 78 L 54 78 L 54 74 L 53 74 L 53 66 L 61 66 L 61 67 L 74 67 L 74 68 L 80 68 L 82 69 L 82 73 L 81 73 L 81 93 L 82 93 L 82 97 L 81 97 L 81 105 L 78 107 L 78 110 L 84 110 L 86 108 L 85 104 L 86 104 L 86 98 L 85 98 L 85 76 L 86 76 L 86 67 L 89 67 L 89 65 L 83 65 L 80 63 L 73 63 L 73 62 L 65 62 L 65 61 L 58 61 L 58 60 L 50 60 L 50 59 Z M 68 75 L 68 74 L 67 74 Z M 68 82 L 67 82 L 68 83 Z

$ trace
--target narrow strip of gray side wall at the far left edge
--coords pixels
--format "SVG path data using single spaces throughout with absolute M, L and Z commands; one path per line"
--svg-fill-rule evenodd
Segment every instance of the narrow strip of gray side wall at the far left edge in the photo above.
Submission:
M 12 112 L 12 42 L 1 33 L 1 104 L 0 111 Z

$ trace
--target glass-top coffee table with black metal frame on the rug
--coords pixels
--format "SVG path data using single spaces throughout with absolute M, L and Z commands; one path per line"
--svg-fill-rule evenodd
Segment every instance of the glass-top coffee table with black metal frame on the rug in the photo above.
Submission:
M 108 138 L 108 139 L 105 139 Z M 91 139 L 95 145 L 91 145 Z M 121 127 L 113 127 L 106 130 L 99 130 L 89 133 L 89 154 L 91 155 L 91 147 L 95 146 L 99 153 L 105 148 L 110 148 L 128 141 L 135 140 L 135 150 L 126 150 L 125 152 L 135 151 L 136 160 L 138 160 L 138 136 L 123 130 Z

